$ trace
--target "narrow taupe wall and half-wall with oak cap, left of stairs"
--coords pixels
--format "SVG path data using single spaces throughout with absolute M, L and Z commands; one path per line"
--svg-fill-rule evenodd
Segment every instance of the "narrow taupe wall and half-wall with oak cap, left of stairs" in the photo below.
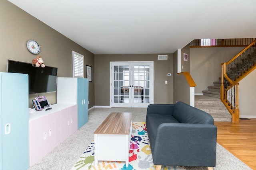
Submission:
M 183 53 L 188 55 L 188 61 L 184 61 Z M 174 63 L 174 92 L 173 92 L 173 101 L 174 104 L 178 101 L 182 101 L 190 105 L 190 86 L 183 74 L 178 75 L 178 51 L 173 54 L 173 63 Z M 182 69 L 183 65 L 183 69 Z M 190 70 L 190 46 L 186 45 L 181 49 L 181 62 L 180 65 L 181 72 L 189 72 Z M 192 77 L 193 78 L 193 77 Z

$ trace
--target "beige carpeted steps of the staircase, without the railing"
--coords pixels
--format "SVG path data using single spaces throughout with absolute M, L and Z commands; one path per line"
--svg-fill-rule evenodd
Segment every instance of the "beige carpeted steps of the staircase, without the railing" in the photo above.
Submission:
M 208 86 L 208 90 L 202 91 L 203 95 L 195 96 L 195 107 L 212 115 L 214 121 L 232 122 L 232 115 L 220 100 L 221 78 L 213 84 Z

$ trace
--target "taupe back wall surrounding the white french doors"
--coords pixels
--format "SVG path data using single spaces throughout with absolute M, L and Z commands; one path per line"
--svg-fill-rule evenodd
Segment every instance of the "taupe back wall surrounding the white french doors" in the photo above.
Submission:
M 172 54 L 168 60 L 158 60 L 162 54 L 141 55 L 95 55 L 95 105 L 110 106 L 110 61 L 154 61 L 154 103 L 173 103 L 173 75 Z M 165 80 L 168 84 L 165 84 Z

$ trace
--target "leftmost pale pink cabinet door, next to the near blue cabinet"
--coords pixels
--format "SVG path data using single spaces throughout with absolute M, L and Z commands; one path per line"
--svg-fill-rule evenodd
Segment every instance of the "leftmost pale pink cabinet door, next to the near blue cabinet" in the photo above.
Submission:
M 34 165 L 50 151 L 47 139 L 48 116 L 29 121 L 29 166 Z

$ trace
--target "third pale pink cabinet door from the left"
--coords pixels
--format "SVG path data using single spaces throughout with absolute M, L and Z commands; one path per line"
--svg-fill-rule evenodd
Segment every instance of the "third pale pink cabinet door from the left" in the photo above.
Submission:
M 61 142 L 70 136 L 70 107 L 60 111 L 60 139 Z

